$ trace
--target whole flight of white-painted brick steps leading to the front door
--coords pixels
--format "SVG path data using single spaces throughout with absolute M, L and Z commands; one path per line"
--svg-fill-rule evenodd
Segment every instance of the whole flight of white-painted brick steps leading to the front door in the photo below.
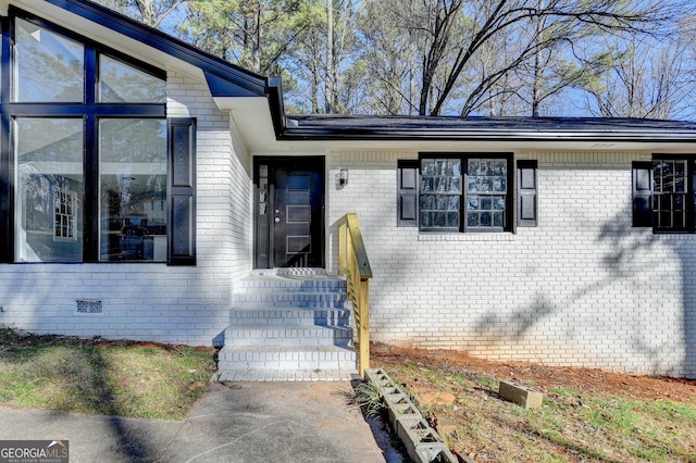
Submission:
M 289 270 L 241 281 L 219 352 L 220 380 L 348 380 L 358 375 L 346 281 Z

